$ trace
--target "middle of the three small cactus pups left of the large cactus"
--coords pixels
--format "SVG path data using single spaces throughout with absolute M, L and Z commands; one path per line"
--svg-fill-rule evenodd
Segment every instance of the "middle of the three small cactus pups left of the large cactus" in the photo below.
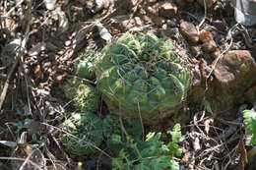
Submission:
M 98 109 L 99 96 L 96 87 L 73 78 L 64 85 L 64 92 L 68 99 L 75 101 L 75 105 L 81 112 L 96 112 Z

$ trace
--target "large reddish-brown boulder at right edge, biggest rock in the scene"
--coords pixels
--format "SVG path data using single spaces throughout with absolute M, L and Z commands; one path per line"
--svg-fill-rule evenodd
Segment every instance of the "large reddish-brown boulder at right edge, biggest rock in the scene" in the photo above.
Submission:
M 214 62 L 215 63 L 215 62 Z M 245 101 L 256 100 L 256 63 L 247 50 L 233 50 L 220 58 L 214 70 L 211 107 L 221 112 Z M 210 87 L 209 87 L 210 88 Z

